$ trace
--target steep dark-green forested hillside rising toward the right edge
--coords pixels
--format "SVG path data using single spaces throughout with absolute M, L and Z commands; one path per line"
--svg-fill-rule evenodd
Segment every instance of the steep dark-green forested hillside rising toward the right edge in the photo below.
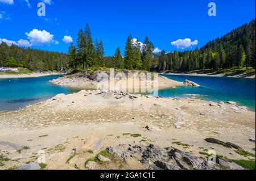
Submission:
M 255 68 L 255 20 L 225 36 L 210 41 L 201 49 L 166 53 L 159 56 L 159 71 L 192 71 L 201 69 Z

